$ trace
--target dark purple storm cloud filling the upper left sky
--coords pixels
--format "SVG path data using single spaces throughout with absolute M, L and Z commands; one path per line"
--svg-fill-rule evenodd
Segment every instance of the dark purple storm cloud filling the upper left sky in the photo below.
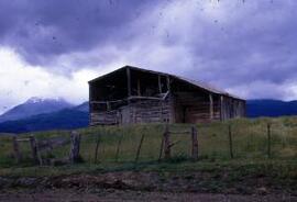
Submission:
M 0 43 L 34 65 L 52 57 L 119 43 L 127 24 L 155 7 L 152 0 L 1 0 Z

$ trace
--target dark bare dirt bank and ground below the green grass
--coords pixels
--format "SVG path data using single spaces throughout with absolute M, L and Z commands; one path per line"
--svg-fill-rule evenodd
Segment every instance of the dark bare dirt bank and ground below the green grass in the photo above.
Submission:
M 222 201 L 297 202 L 295 181 L 224 175 L 108 172 L 57 177 L 0 177 L 0 201 Z

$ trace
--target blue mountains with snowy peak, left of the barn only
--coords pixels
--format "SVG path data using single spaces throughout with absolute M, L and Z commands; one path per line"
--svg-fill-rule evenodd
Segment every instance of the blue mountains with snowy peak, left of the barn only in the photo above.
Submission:
M 63 99 L 31 98 L 0 115 L 0 133 L 74 130 L 89 124 L 89 103 L 73 105 Z

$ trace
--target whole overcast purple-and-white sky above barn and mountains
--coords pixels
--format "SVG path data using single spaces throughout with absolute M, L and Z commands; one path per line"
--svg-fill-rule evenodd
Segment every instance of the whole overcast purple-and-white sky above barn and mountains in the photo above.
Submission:
M 124 65 L 297 99 L 296 0 L 0 0 L 0 113 Z

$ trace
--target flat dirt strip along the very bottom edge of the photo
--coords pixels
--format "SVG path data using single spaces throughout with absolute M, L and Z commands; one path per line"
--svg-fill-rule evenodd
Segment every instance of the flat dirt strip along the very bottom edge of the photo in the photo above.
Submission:
M 0 193 L 0 201 L 23 201 L 23 202 L 52 202 L 52 201 L 196 201 L 196 202 L 282 202 L 297 201 L 292 195 L 243 195 L 243 194 L 213 194 L 213 193 L 172 193 L 172 192 L 141 192 L 141 191 L 119 191 L 119 190 L 98 190 L 97 192 L 76 192 L 74 190 L 22 190 L 6 191 Z

